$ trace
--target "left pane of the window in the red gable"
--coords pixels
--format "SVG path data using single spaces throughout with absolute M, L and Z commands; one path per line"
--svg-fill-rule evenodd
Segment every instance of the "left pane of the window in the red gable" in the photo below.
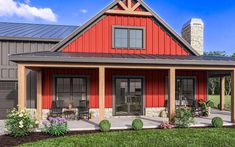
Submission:
M 128 38 L 128 30 L 127 29 L 115 29 L 115 38 L 114 45 L 117 48 L 127 48 L 127 38 Z

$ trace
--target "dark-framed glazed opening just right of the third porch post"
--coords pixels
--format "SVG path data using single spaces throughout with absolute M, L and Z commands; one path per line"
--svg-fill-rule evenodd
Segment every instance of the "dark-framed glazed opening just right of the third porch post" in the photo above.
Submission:
M 176 106 L 192 106 L 195 100 L 195 79 L 177 78 Z

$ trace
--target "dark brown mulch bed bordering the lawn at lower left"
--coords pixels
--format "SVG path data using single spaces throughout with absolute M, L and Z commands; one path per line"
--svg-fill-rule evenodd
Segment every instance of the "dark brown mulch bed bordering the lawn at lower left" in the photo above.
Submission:
M 66 134 L 65 136 L 71 136 L 71 135 L 83 135 L 83 134 L 91 134 L 91 133 L 98 133 L 100 131 L 72 131 Z M 58 136 L 61 137 L 61 136 Z M 28 136 L 24 137 L 11 137 L 9 135 L 2 135 L 0 136 L 0 147 L 12 147 L 19 144 L 24 144 L 28 142 L 36 142 L 44 139 L 49 138 L 57 138 L 55 136 L 47 135 L 41 132 L 38 133 L 31 133 Z

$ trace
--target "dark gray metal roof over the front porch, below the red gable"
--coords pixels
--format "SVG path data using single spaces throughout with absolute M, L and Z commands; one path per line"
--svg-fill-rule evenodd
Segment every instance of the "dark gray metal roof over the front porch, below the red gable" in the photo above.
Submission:
M 9 60 L 14 62 L 235 66 L 235 58 L 232 57 L 63 53 L 50 51 L 13 54 L 9 55 Z

